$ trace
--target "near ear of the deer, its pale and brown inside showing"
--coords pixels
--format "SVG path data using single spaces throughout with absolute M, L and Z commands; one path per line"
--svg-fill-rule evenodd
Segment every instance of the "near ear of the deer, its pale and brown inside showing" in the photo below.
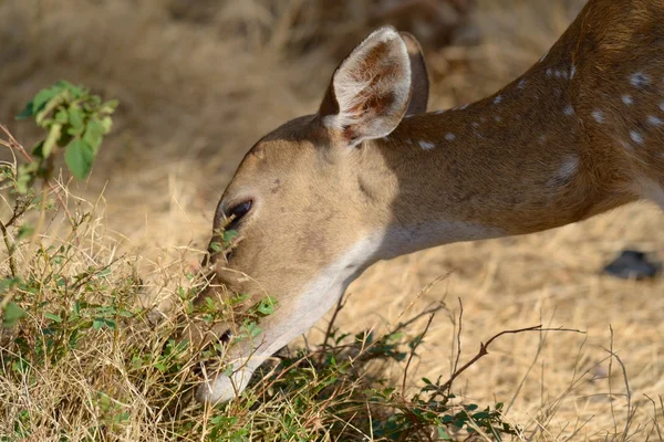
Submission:
M 411 99 L 411 57 L 392 27 L 374 31 L 339 65 L 321 103 L 322 124 L 350 146 L 388 135 Z

